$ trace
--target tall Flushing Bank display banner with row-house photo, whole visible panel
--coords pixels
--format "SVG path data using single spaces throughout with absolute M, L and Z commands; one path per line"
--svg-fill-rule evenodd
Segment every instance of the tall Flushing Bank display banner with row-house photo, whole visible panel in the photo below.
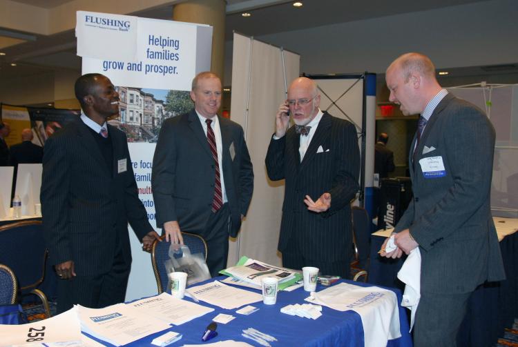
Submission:
M 154 228 L 155 143 L 167 118 L 193 108 L 189 91 L 195 75 L 210 70 L 212 29 L 203 24 L 77 12 L 82 73 L 101 73 L 116 86 L 119 115 L 109 123 L 126 133 L 139 197 Z M 126 300 L 157 293 L 149 255 L 133 231 L 130 237 L 133 265 Z

